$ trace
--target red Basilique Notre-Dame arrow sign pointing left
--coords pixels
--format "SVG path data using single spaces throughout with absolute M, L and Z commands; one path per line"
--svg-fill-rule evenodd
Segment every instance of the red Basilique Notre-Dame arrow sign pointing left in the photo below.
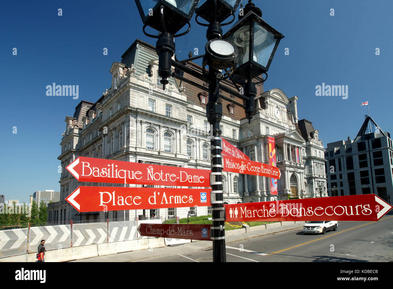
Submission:
M 206 169 L 159 166 L 79 156 L 66 169 L 79 182 L 210 187 Z

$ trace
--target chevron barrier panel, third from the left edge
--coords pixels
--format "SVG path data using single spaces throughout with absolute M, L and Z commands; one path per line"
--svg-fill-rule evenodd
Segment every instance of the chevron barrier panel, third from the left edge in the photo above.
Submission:
M 72 225 L 72 247 L 107 243 L 108 224 L 86 223 Z

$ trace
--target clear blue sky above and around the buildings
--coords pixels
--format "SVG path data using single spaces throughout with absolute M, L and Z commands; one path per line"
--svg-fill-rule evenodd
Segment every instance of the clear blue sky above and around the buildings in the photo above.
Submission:
M 277 87 L 288 97 L 297 95 L 299 119 L 312 121 L 325 146 L 356 136 L 367 114 L 367 107 L 360 106 L 364 101 L 369 101 L 370 115 L 382 130 L 393 132 L 393 2 L 253 2 L 262 9 L 262 18 L 285 35 L 265 91 Z M 176 39 L 179 59 L 194 48 L 204 51 L 206 29 L 194 20 L 191 24 L 191 32 Z M 36 190 L 59 191 L 57 157 L 66 115 L 72 116 L 82 99 L 95 102 L 102 96 L 110 87 L 110 66 L 121 61 L 136 38 L 155 44 L 142 26 L 132 0 L 2 3 L 0 194 L 6 200 L 28 202 Z M 103 55 L 104 48 L 108 55 Z M 46 96 L 46 86 L 53 82 L 79 85 L 79 99 Z M 348 85 L 348 98 L 316 96 L 315 87 L 322 83 Z

